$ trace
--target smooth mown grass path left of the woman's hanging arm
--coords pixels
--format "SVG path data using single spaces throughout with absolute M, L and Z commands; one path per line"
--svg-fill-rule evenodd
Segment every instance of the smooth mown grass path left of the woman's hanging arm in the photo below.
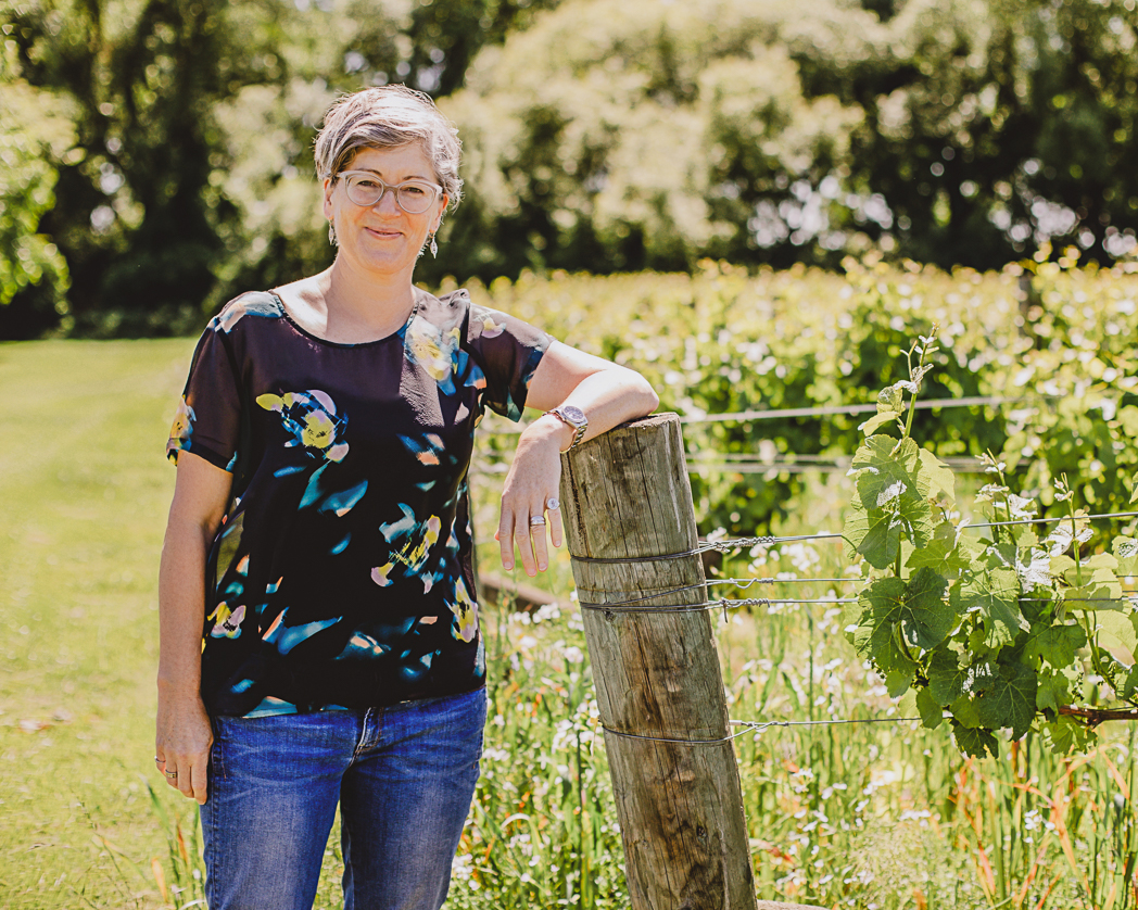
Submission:
M 0 907 L 156 907 L 163 444 L 192 340 L 0 345 Z M 170 805 L 189 803 L 173 793 Z

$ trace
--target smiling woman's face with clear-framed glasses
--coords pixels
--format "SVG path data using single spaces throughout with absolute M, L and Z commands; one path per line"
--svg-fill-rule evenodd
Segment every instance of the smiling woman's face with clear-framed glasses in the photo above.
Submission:
M 389 187 L 409 180 L 438 184 L 422 146 L 412 143 L 386 149 L 361 149 L 345 171 L 366 171 Z M 427 237 L 438 230 L 447 197 L 439 198 L 422 214 L 404 212 L 395 192 L 385 192 L 373 206 L 360 206 L 348 199 L 344 177 L 335 183 L 324 180 L 324 216 L 336 228 L 339 241 L 337 258 L 377 278 L 406 273 L 407 282 Z

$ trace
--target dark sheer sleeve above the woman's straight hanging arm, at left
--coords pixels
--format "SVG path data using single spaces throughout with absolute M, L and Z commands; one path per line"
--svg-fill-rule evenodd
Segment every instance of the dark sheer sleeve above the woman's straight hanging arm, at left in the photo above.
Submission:
M 166 456 L 192 452 L 224 471 L 237 462 L 241 395 L 225 337 L 211 326 L 193 351 L 190 375 L 174 415 Z

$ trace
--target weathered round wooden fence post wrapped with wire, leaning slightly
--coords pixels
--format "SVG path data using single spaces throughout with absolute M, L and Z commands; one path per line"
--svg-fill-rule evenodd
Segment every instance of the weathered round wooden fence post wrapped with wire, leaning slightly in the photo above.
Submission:
M 698 543 L 679 419 L 619 427 L 570 452 L 562 468 L 562 518 L 577 557 L 633 910 L 756 910 L 711 615 L 668 609 L 707 601 L 702 562 L 636 561 L 690 553 Z M 688 589 L 661 594 L 676 588 Z M 658 609 L 584 606 L 634 599 Z

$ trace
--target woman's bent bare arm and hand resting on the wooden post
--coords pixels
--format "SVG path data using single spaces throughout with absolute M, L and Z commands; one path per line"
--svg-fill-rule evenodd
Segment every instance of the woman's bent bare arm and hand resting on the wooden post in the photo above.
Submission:
M 537 366 L 526 397 L 528 407 L 550 411 L 560 405 L 579 407 L 588 420 L 584 439 L 619 423 L 651 414 L 660 399 L 648 381 L 633 370 L 554 341 Z M 545 527 L 530 524 L 544 515 L 546 503 L 558 497 L 561 453 L 572 444 L 575 430 L 560 417 L 545 414 L 526 428 L 502 490 L 497 539 L 502 565 L 513 569 L 513 545 L 521 553 L 526 574 L 549 566 Z M 549 513 L 553 546 L 561 546 L 561 513 Z M 536 531 L 536 533 L 531 533 Z

